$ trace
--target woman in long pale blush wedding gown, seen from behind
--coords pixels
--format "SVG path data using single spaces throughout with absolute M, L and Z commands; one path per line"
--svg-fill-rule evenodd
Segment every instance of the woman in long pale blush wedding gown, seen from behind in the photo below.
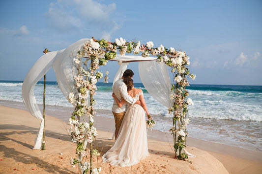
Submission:
M 146 135 L 146 115 L 149 115 L 141 89 L 134 88 L 133 80 L 129 77 L 124 79 L 128 94 L 141 101 L 141 105 L 129 105 L 121 123 L 119 133 L 113 147 L 103 155 L 103 162 L 111 165 L 131 166 L 149 156 Z M 115 94 L 113 97 L 121 107 L 125 101 L 119 101 Z M 146 111 L 146 115 L 145 115 Z

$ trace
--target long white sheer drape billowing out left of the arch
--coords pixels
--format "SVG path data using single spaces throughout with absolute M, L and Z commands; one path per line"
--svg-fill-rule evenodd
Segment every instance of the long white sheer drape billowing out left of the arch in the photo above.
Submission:
M 26 75 L 22 87 L 23 101 L 29 112 L 34 117 L 42 120 L 38 134 L 35 138 L 33 149 L 41 149 L 44 130 L 43 114 L 36 103 L 33 87 L 53 66 L 53 69 L 56 72 L 59 88 L 64 96 L 67 97 L 70 92 L 75 93 L 73 74 L 75 73 L 76 68 L 72 66 L 72 62 L 73 58 L 76 56 L 76 52 L 88 40 L 89 39 L 81 39 L 78 42 L 71 44 L 66 49 L 44 54 L 37 60 Z

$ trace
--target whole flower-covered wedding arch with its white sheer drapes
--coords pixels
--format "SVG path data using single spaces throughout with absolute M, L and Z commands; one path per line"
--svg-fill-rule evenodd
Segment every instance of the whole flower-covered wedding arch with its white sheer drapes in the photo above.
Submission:
M 81 173 L 100 172 L 98 166 L 92 167 L 92 155 L 99 155 L 98 150 L 92 146 L 97 136 L 93 119 L 96 113 L 94 96 L 96 83 L 103 77 L 98 71 L 99 66 L 106 65 L 110 60 L 118 61 L 120 65 L 114 82 L 122 76 L 130 62 L 139 62 L 139 74 L 146 90 L 159 103 L 169 108 L 169 113 L 173 116 L 170 132 L 174 138 L 175 157 L 187 159 L 188 155 L 191 155 L 185 150 L 186 128 L 189 123 L 187 108 L 193 101 L 190 98 L 186 100 L 189 95 L 186 87 L 189 86 L 187 78 L 194 80 L 195 75 L 189 72 L 187 66 L 190 62 L 185 52 L 176 51 L 173 47 L 167 49 L 162 44 L 156 48 L 153 46 L 152 42 L 145 45 L 140 42 L 126 42 L 122 38 L 116 39 L 114 43 L 103 39 L 81 39 L 66 49 L 49 52 L 40 57 L 29 70 L 22 87 L 22 98 L 27 109 L 42 120 L 33 149 L 41 148 L 44 129 L 44 118 L 36 103 L 33 87 L 53 67 L 60 90 L 75 107 L 69 124 L 74 127 L 71 138 L 76 143 L 78 158 L 72 158 L 70 163 L 78 164 Z M 131 52 L 141 53 L 141 56 L 125 55 Z M 174 73 L 175 83 L 170 81 L 168 66 Z M 86 160 L 88 153 L 89 162 Z

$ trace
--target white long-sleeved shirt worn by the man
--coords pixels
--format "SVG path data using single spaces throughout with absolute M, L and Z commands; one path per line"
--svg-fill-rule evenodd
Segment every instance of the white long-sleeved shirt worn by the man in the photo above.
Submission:
M 123 79 L 118 79 L 114 85 L 113 85 L 113 92 L 115 93 L 116 95 L 116 98 L 118 100 L 121 100 L 121 98 L 123 98 L 125 101 L 127 101 L 128 103 L 134 105 L 136 103 L 136 99 L 131 97 L 130 95 L 128 95 L 127 93 L 127 88 L 126 88 L 126 85 L 125 83 L 123 82 Z M 115 99 L 114 99 L 114 104 L 113 104 L 113 107 L 112 107 L 112 111 L 115 112 L 115 113 L 120 113 L 120 112 L 124 112 L 126 111 L 126 108 L 127 108 L 127 103 L 125 105 L 123 105 L 121 108 L 118 107 Z

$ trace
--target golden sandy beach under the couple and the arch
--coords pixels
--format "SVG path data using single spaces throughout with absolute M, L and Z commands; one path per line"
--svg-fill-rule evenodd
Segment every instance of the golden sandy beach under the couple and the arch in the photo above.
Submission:
M 75 157 L 69 126 L 59 118 L 46 116 L 46 150 L 32 150 L 40 120 L 23 109 L 0 106 L 0 173 L 77 173 L 69 160 Z M 114 120 L 95 118 L 97 147 L 103 155 L 112 147 Z M 131 167 L 111 166 L 98 158 L 102 174 L 261 174 L 262 153 L 188 138 L 187 151 L 196 155 L 188 161 L 174 159 L 169 133 L 148 131 L 150 156 Z M 96 166 L 96 159 L 93 162 Z

